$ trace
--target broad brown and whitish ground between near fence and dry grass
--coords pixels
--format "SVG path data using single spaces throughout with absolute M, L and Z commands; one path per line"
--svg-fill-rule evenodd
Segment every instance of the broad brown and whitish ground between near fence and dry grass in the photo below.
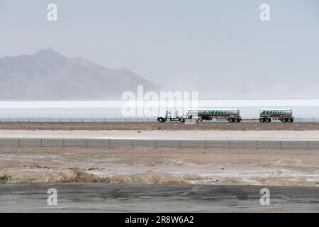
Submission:
M 319 186 L 319 150 L 0 148 L 0 175 L 29 182 L 79 167 L 98 176 L 166 175 L 192 184 Z

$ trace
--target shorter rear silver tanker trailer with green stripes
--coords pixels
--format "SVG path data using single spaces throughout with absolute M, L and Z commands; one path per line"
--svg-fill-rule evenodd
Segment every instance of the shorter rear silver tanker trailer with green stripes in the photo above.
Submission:
M 260 109 L 259 121 L 261 123 L 270 123 L 272 120 L 279 120 L 283 123 L 292 123 L 292 109 Z

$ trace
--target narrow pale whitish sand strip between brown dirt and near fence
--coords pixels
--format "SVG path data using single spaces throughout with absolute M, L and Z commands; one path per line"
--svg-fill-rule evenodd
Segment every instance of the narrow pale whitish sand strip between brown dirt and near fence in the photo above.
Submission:
M 0 130 L 0 138 L 135 140 L 301 140 L 319 141 L 319 131 L 21 131 Z

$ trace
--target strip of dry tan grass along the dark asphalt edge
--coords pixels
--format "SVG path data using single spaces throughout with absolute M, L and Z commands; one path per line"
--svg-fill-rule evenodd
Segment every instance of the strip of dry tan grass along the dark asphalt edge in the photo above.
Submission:
M 308 186 L 319 187 L 318 181 L 311 181 L 303 178 L 289 177 L 250 177 L 242 179 L 241 177 L 199 177 L 198 175 L 182 175 L 175 177 L 172 175 L 160 175 L 147 173 L 144 175 L 110 175 L 99 177 L 86 172 L 85 170 L 74 168 L 63 171 L 47 172 L 18 172 L 6 171 L 0 172 L 2 183 L 68 183 L 68 182 L 93 182 L 106 184 L 220 184 L 220 185 L 272 185 L 272 186 Z M 0 177 L 1 179 L 1 177 Z

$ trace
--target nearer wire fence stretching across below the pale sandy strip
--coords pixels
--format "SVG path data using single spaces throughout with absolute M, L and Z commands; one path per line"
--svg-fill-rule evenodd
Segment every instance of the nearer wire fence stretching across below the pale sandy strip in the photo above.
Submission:
M 42 139 L 0 138 L 7 147 L 148 147 L 148 148 L 301 148 L 319 149 L 319 141 L 276 140 L 120 140 L 120 139 Z

